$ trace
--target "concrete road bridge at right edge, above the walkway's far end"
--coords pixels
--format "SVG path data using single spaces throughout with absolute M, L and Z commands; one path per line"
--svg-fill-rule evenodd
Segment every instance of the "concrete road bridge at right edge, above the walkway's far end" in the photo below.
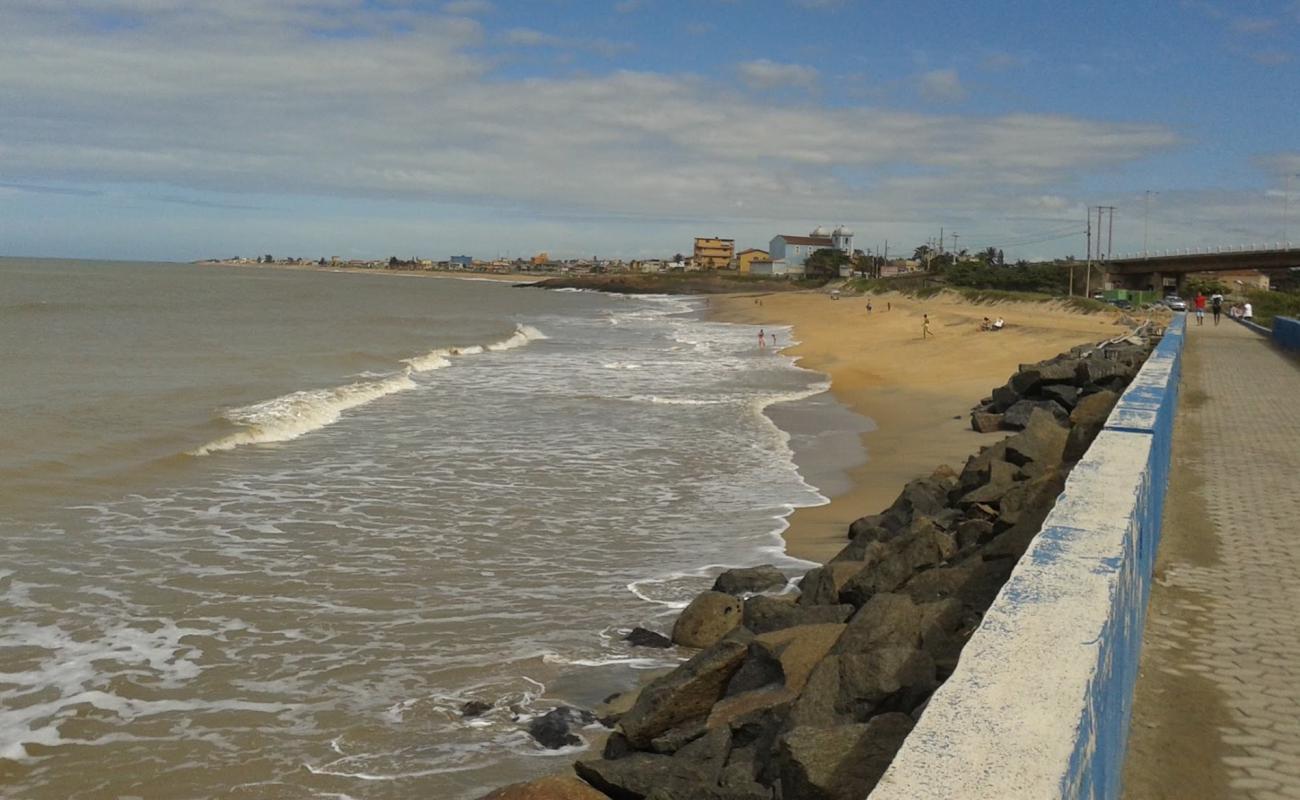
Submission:
M 1187 274 L 1195 272 L 1262 272 L 1300 267 L 1300 246 L 1291 242 L 1275 245 L 1242 245 L 1218 250 L 1160 250 L 1147 254 L 1124 254 L 1104 264 L 1106 282 L 1113 289 L 1180 291 Z M 1173 284 L 1166 284 L 1171 280 Z

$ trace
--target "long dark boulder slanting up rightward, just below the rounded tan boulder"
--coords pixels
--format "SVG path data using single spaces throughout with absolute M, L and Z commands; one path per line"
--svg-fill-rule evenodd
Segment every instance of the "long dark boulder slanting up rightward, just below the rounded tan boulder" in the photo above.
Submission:
M 723 696 L 748 652 L 745 643 L 724 639 L 697 653 L 641 689 L 636 705 L 619 719 L 619 730 L 633 747 L 645 749 L 664 731 L 693 719 L 702 721 Z

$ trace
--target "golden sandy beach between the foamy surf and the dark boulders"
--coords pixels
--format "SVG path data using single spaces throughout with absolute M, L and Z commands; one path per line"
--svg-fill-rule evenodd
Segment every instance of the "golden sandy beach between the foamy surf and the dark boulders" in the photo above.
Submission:
M 849 523 L 883 511 L 909 480 L 939 464 L 961 470 L 982 445 L 1005 437 L 971 431 L 970 410 L 1019 364 L 1127 332 L 1114 312 L 1080 313 L 1054 303 L 987 306 L 952 294 L 871 295 L 871 303 L 868 315 L 864 297 L 835 300 L 824 291 L 711 298 L 718 321 L 793 327 L 800 343 L 784 353 L 827 373 L 835 397 L 876 424 L 862 434 L 867 462 L 850 471 L 853 488 L 790 516 L 786 549 L 797 558 L 829 559 L 848 544 Z M 924 341 L 923 313 L 933 333 Z M 985 316 L 1002 316 L 1006 328 L 982 332 Z

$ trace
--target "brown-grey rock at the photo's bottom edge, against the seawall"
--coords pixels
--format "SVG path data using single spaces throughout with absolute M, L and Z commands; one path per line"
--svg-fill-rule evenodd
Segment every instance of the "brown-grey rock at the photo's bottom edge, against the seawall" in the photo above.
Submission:
M 866 725 L 797 727 L 781 736 L 776 766 L 788 800 L 862 800 L 911 731 L 906 714 Z

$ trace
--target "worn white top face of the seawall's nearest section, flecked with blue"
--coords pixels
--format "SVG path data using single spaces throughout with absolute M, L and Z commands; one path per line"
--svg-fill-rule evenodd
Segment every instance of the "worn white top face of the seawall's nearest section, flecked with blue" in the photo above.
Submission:
M 1150 444 L 1097 437 L 871 800 L 1061 796 Z

